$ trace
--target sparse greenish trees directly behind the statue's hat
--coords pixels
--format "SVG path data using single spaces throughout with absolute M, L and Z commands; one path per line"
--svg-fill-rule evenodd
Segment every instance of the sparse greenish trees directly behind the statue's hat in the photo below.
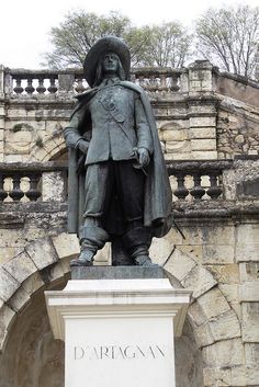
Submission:
M 117 12 L 99 16 L 80 10 L 69 13 L 59 26 L 50 30 L 54 49 L 44 54 L 45 65 L 82 66 L 88 50 L 104 35 L 116 35 L 127 43 L 133 66 L 180 67 L 190 50 L 190 36 L 180 23 L 135 27 Z

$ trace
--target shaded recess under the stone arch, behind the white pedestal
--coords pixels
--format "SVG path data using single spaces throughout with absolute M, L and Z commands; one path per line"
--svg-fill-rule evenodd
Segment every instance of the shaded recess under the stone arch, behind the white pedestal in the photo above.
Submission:
M 58 288 L 65 285 L 64 280 Z M 64 342 L 53 338 L 43 291 L 31 299 L 13 323 L 0 355 L 0 387 L 64 387 Z M 203 385 L 202 356 L 188 320 L 176 341 L 176 374 L 177 387 Z

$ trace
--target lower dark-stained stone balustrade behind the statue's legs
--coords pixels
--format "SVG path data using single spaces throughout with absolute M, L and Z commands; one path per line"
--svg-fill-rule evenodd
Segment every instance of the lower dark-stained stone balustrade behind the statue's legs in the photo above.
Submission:
M 232 161 L 174 161 L 167 169 L 173 201 L 224 198 L 223 173 Z M 66 202 L 67 166 L 0 163 L 0 202 Z

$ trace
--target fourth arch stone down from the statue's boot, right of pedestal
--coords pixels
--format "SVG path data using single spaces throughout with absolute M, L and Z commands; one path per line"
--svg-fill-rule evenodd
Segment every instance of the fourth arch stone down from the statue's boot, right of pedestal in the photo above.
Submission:
M 207 320 L 230 310 L 230 307 L 222 292 L 215 287 L 198 298 L 196 303 L 201 306 Z

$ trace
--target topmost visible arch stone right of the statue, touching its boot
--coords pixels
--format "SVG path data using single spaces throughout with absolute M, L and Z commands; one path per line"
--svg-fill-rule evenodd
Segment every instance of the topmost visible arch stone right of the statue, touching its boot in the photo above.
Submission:
M 149 255 L 153 262 L 162 266 L 173 252 L 173 249 L 174 244 L 169 238 L 153 238 Z

